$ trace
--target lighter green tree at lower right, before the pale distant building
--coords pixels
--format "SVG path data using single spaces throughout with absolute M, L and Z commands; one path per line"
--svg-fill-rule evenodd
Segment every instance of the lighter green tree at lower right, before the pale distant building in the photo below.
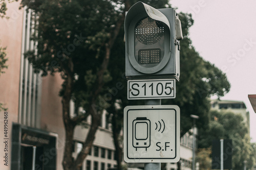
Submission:
M 242 169 L 245 160 L 249 162 L 247 167 L 251 168 L 255 163 L 255 149 L 250 143 L 250 137 L 242 115 L 216 110 L 210 111 L 209 115 L 209 128 L 201 132 L 199 148 L 210 147 L 213 139 L 232 139 L 233 169 Z

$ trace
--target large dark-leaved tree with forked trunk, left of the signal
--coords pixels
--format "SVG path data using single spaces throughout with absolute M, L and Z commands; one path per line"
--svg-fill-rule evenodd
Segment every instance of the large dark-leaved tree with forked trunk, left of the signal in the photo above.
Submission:
M 66 131 L 64 169 L 79 169 L 82 165 L 100 125 L 102 111 L 110 107 L 106 83 L 112 80 L 108 70 L 111 52 L 123 25 L 125 11 L 134 3 L 129 0 L 22 1 L 22 7 L 28 6 L 39 16 L 32 35 L 38 42 L 38 51 L 36 54 L 27 52 L 25 57 L 36 72 L 43 71 L 42 76 L 60 72 L 63 79 L 60 96 Z M 167 1 L 155 2 L 158 3 L 167 4 Z M 71 117 L 70 100 L 76 107 L 83 107 L 86 113 Z M 72 159 L 74 128 L 89 115 L 92 116 L 89 133 L 81 152 Z

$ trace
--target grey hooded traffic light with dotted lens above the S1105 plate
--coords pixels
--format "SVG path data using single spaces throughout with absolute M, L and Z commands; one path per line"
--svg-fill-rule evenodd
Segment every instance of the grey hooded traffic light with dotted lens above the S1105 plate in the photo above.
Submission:
M 173 8 L 155 9 L 142 2 L 126 13 L 125 76 L 159 79 L 180 76 L 181 23 Z

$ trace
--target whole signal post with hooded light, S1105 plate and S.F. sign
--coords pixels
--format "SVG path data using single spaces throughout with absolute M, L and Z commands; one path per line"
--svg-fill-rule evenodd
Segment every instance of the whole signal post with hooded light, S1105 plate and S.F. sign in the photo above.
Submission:
M 138 2 L 126 13 L 124 31 L 127 98 L 145 100 L 124 108 L 124 161 L 160 170 L 160 162 L 180 159 L 180 109 L 161 99 L 176 97 L 181 23 L 173 8 Z

